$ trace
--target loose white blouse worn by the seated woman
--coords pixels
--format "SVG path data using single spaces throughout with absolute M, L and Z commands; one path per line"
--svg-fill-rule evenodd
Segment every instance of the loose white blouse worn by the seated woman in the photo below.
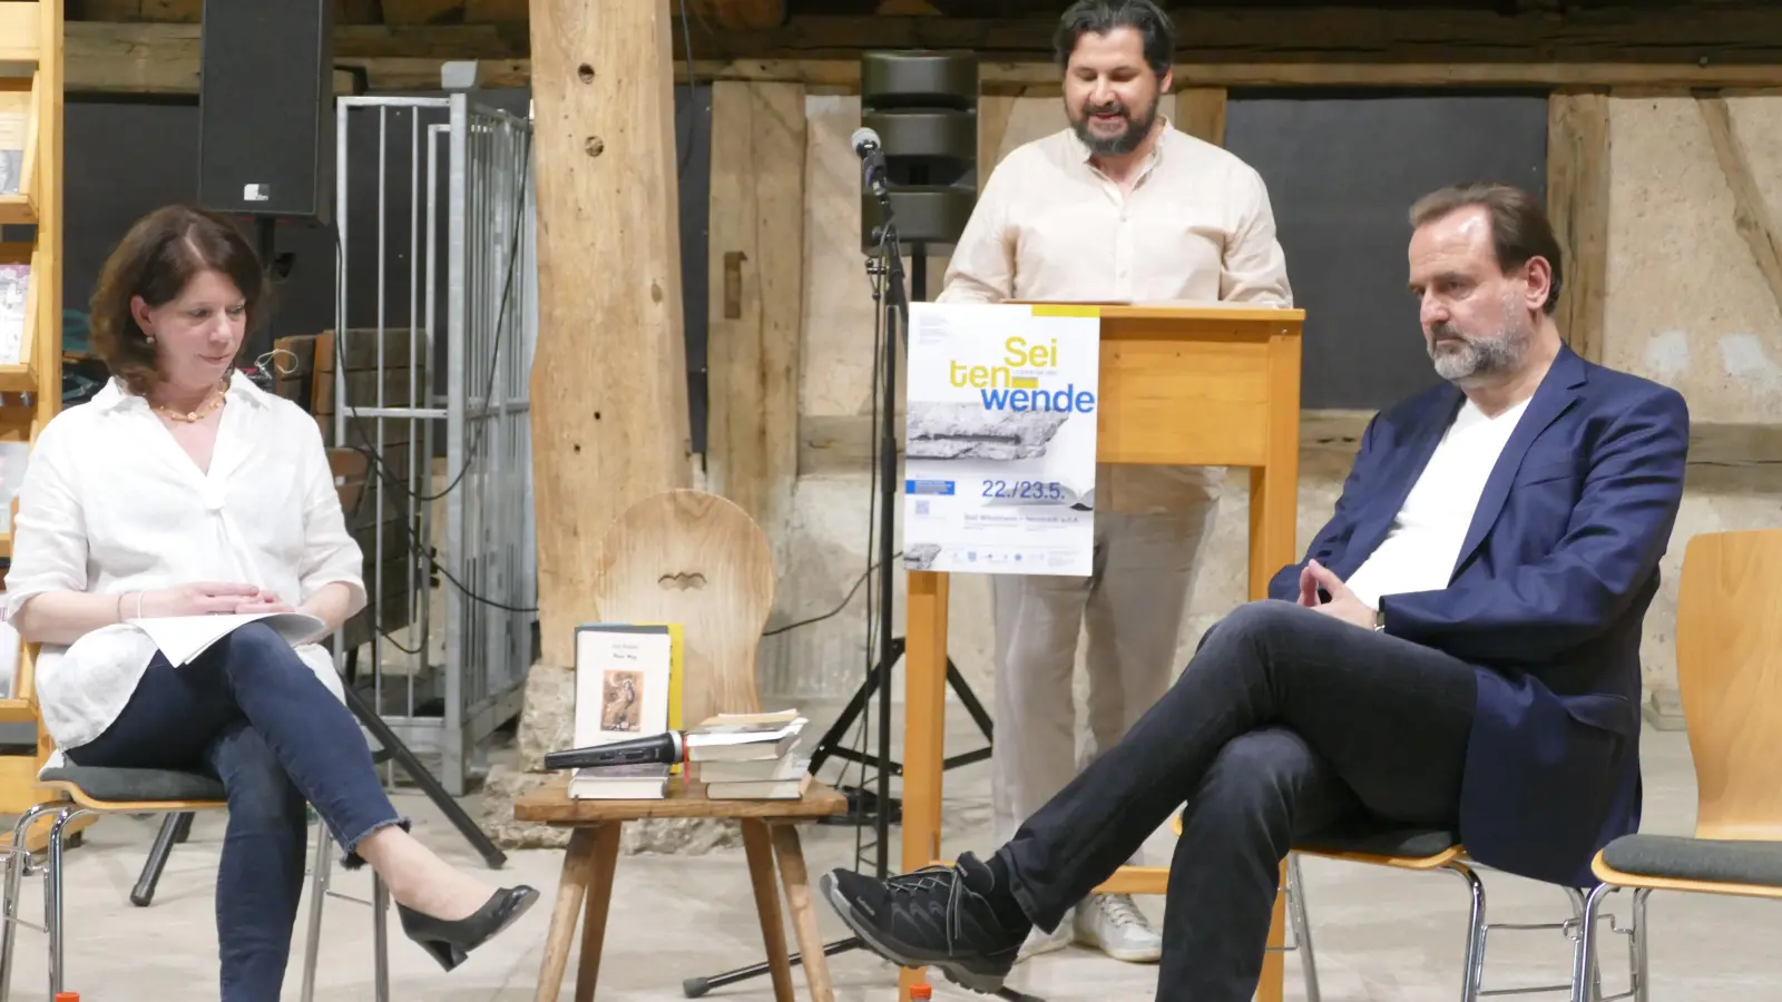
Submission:
M 192 581 L 257 585 L 289 606 L 340 581 L 353 588 L 353 608 L 364 606 L 364 554 L 346 531 L 315 419 L 241 373 L 226 399 L 208 472 L 116 380 L 57 414 L 20 485 L 0 615 L 14 622 L 43 592 L 130 595 Z M 135 597 L 123 603 L 134 619 Z M 57 749 L 100 736 L 155 651 L 121 622 L 68 647 L 45 644 L 37 702 Z M 298 654 L 344 699 L 324 647 L 305 644 Z

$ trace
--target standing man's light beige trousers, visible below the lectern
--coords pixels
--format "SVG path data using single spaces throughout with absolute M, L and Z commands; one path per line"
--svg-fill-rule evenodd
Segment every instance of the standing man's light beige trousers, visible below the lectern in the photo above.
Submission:
M 1183 513 L 1096 512 L 1087 578 L 998 574 L 991 829 L 1014 838 L 1164 697 L 1217 501 Z M 1076 747 L 1076 638 L 1087 624 L 1089 742 Z M 1133 858 L 1139 861 L 1139 856 Z

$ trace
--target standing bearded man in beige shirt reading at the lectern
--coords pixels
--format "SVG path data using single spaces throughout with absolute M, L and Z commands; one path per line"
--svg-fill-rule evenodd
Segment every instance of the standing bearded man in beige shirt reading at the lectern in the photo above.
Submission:
M 1292 305 L 1262 178 L 1158 114 L 1174 48 L 1174 27 L 1151 0 L 1082 0 L 1066 11 L 1057 55 L 1069 127 L 996 166 L 939 301 Z M 1221 476 L 1103 465 L 1094 572 L 993 578 L 998 842 L 1167 692 Z M 1085 617 L 1091 742 L 1076 756 L 1071 676 Z M 1025 954 L 1060 949 L 1073 932 L 1124 961 L 1162 956 L 1162 940 L 1126 895 L 1083 902 L 1055 934 L 1035 932 Z

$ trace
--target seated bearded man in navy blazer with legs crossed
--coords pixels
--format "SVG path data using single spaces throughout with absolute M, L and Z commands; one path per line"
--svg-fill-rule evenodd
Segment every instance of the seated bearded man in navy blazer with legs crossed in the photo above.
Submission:
M 875 952 L 994 991 L 1030 927 L 1185 802 L 1157 998 L 1244 1002 L 1296 840 L 1449 827 L 1484 865 L 1582 888 L 1595 850 L 1638 827 L 1641 619 L 1688 408 L 1561 342 L 1559 246 L 1527 193 L 1442 189 L 1411 225 L 1445 385 L 1369 423 L 1306 560 L 989 859 L 827 874 Z

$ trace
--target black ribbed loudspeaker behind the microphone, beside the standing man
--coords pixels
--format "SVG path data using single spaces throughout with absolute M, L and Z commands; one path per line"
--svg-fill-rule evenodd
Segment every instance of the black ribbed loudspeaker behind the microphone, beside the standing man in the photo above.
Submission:
M 898 242 L 955 244 L 977 205 L 978 59 L 973 52 L 866 52 L 861 125 L 879 134 Z M 884 210 L 861 193 L 861 248 L 873 253 Z

